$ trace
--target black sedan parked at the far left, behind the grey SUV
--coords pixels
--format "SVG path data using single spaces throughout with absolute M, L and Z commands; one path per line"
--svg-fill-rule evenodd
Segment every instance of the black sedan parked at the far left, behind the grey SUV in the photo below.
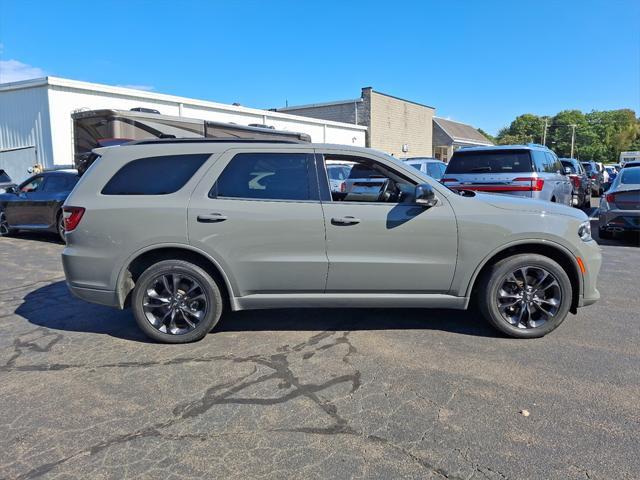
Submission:
M 0 194 L 0 235 L 16 230 L 50 231 L 64 241 L 62 204 L 78 180 L 74 170 L 44 172 Z

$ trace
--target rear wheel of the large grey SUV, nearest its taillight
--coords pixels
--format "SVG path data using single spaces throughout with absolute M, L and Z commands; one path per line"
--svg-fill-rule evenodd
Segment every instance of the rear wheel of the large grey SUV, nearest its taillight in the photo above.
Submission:
M 204 338 L 216 326 L 223 301 L 215 280 L 201 267 L 164 260 L 140 275 L 131 306 L 138 326 L 152 340 L 189 343 Z

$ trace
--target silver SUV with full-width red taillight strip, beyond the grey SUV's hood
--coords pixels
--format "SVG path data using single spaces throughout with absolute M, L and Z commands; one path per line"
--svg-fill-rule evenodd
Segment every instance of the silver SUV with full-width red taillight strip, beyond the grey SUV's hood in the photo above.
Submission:
M 456 150 L 442 182 L 455 190 L 517 195 L 571 205 L 573 187 L 558 157 L 542 145 Z

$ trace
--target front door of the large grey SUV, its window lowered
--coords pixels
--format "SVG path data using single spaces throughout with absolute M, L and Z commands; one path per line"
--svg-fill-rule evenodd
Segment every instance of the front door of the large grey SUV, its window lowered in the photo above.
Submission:
M 324 160 L 352 165 L 346 192 L 323 196 L 327 292 L 448 292 L 458 242 L 447 200 L 415 204 L 416 182 L 374 157 L 324 152 Z

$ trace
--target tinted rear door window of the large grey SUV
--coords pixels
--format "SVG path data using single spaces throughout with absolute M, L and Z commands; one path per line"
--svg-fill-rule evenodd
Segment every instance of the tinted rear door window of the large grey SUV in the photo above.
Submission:
M 240 153 L 218 177 L 210 196 L 263 200 L 311 200 L 306 153 Z

